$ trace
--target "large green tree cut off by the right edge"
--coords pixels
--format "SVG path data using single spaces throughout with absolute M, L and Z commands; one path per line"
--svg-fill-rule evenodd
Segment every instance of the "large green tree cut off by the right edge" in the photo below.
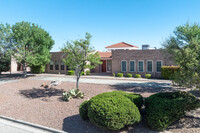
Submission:
M 200 88 L 200 26 L 189 23 L 178 26 L 174 36 L 163 44 L 180 66 L 174 75 L 175 83 L 185 87 Z

